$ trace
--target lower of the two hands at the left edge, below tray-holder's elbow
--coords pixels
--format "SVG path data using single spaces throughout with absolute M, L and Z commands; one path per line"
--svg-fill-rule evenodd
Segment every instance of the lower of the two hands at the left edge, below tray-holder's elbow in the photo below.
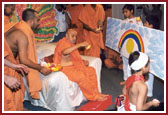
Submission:
M 5 75 L 4 83 L 11 90 L 18 90 L 20 88 L 20 81 L 15 77 Z

